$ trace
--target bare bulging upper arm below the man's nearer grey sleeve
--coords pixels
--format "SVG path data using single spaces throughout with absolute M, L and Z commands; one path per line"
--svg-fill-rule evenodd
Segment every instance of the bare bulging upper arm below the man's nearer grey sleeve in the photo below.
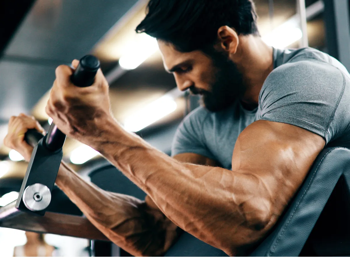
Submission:
M 258 120 L 239 135 L 233 150 L 232 170 L 257 179 L 280 212 L 324 145 L 321 136 L 300 127 Z

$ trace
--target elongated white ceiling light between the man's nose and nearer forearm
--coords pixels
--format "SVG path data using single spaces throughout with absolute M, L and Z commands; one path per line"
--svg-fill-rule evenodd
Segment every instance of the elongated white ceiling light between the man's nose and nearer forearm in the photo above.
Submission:
M 128 131 L 137 132 L 176 110 L 176 102 L 169 95 L 163 95 L 153 103 L 135 111 L 124 123 Z

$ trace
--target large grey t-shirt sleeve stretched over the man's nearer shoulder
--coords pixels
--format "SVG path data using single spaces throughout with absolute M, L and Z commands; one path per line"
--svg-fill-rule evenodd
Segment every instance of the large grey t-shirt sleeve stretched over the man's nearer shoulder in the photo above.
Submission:
M 328 143 L 334 136 L 329 126 L 344 85 L 342 72 L 327 62 L 309 59 L 283 64 L 262 86 L 261 119 L 302 127 Z

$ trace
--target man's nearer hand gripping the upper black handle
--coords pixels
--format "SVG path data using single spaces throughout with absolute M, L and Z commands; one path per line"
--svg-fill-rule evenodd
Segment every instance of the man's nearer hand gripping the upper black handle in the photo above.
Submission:
M 72 62 L 75 68 L 78 64 L 78 60 Z M 112 118 L 109 86 L 100 69 L 89 87 L 73 85 L 70 81 L 72 74 L 69 66 L 56 68 L 56 80 L 45 110 L 59 130 L 84 142 L 87 137 L 99 137 L 103 124 Z

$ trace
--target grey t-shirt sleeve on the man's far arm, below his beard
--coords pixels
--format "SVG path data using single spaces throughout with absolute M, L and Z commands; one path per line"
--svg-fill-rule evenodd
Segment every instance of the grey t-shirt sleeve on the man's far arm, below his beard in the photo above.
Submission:
M 180 153 L 196 153 L 215 160 L 205 144 L 203 123 L 207 113 L 199 108 L 191 112 L 181 122 L 172 144 L 172 156 Z

